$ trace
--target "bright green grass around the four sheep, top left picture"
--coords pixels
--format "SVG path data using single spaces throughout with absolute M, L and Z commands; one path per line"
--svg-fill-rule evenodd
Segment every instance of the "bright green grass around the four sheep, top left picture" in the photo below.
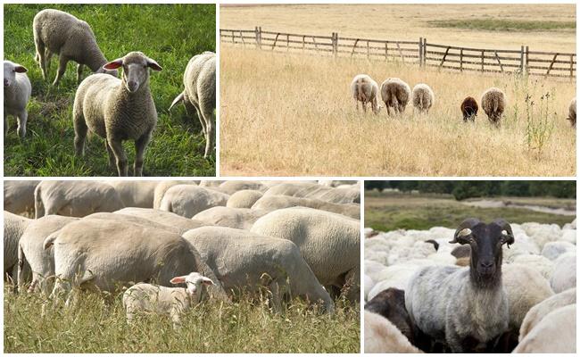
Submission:
M 34 61 L 32 20 L 37 12 L 56 8 L 87 21 L 108 60 L 141 51 L 163 68 L 152 71 L 150 84 L 158 112 L 157 128 L 145 154 L 145 176 L 214 176 L 215 157 L 203 159 L 205 139 L 196 115 L 183 105 L 168 112 L 183 90 L 183 71 L 189 59 L 215 51 L 214 4 L 5 4 L 4 58 L 28 68 L 32 83 L 27 135 L 21 140 L 9 118 L 4 140 L 6 176 L 116 176 L 109 167 L 104 139 L 87 139 L 85 157 L 74 155 L 72 103 L 77 88 L 76 63 L 69 62 L 58 87 L 52 86 L 58 66 L 53 57 L 49 80 L 43 80 Z M 87 77 L 90 70 L 85 69 Z M 135 145 L 125 144 L 129 173 Z

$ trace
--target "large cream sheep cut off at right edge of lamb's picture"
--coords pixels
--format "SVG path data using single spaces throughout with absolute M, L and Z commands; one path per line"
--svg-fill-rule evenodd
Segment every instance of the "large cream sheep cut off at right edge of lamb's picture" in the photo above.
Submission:
M 360 221 L 312 208 L 293 207 L 269 212 L 256 220 L 252 232 L 287 239 L 327 289 L 347 289 L 351 301 L 360 298 Z

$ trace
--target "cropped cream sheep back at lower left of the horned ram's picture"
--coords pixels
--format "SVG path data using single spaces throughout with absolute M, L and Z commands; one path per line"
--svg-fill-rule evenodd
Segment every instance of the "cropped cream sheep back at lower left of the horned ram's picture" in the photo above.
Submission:
M 381 315 L 364 311 L 365 353 L 421 353 L 393 323 Z

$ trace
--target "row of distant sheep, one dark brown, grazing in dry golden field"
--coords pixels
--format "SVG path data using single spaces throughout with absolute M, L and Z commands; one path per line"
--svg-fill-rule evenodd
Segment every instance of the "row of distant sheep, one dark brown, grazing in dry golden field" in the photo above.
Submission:
M 367 74 L 359 74 L 352 79 L 351 94 L 356 102 L 357 111 L 359 102 L 362 103 L 362 110 L 367 112 L 367 104 L 370 103 L 372 112 L 380 112 L 382 105 L 378 104 L 377 82 Z M 389 78 L 381 84 L 380 94 L 385 104 L 388 115 L 401 114 L 409 102 L 418 113 L 428 113 L 435 104 L 435 94 L 433 89 L 425 83 L 419 83 L 411 91 L 409 85 L 402 79 Z M 499 126 L 501 117 L 506 108 L 506 95 L 501 89 L 491 87 L 485 90 L 481 96 L 481 107 L 487 115 L 488 120 Z M 474 97 L 468 96 L 460 104 L 463 121 L 476 120 L 479 105 Z M 572 99 L 568 106 L 568 117 L 573 127 L 576 127 L 576 97 Z

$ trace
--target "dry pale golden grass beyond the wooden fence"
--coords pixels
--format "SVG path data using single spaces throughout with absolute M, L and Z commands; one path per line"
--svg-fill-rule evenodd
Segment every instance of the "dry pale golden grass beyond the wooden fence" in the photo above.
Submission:
M 286 4 L 221 5 L 220 28 L 370 37 L 453 46 L 576 52 L 576 30 L 489 31 L 437 28 L 427 21 L 576 21 L 576 4 Z

